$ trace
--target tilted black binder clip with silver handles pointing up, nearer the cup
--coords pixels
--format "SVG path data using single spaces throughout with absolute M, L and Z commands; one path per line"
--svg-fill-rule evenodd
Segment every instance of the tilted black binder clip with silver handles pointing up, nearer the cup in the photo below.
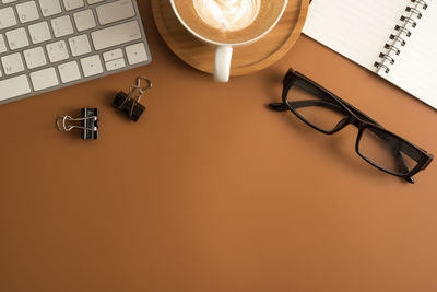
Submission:
M 141 87 L 141 81 L 145 81 L 147 85 L 145 87 Z M 117 93 L 113 106 L 125 113 L 133 121 L 138 121 L 145 110 L 145 107 L 140 104 L 140 100 L 144 95 L 145 91 L 150 90 L 151 87 L 152 81 L 145 77 L 140 77 L 137 79 L 137 85 L 132 85 L 130 87 L 129 94 L 122 91 Z

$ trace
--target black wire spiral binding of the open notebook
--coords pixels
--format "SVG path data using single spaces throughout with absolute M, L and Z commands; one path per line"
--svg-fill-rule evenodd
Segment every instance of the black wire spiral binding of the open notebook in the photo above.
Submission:
M 413 30 L 417 26 L 417 21 L 423 16 L 423 10 L 428 8 L 428 3 L 425 0 L 411 0 L 411 2 L 412 5 L 405 8 L 405 12 L 409 12 L 409 14 L 401 15 L 401 23 L 394 26 L 394 32 L 389 37 L 391 42 L 383 46 L 387 50 L 380 52 L 380 60 L 374 63 L 378 68 L 378 72 L 379 70 L 383 70 L 387 74 L 390 72 L 390 65 L 395 62 L 395 56 L 399 56 L 402 52 L 401 47 L 406 45 L 406 37 L 413 34 Z

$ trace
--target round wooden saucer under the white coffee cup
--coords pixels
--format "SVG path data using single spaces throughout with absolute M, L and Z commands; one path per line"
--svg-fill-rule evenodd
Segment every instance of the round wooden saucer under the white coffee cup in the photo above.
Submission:
M 309 0 L 288 0 L 277 25 L 262 39 L 234 48 L 231 75 L 262 70 L 283 57 L 296 43 L 307 16 Z M 188 65 L 214 72 L 215 48 L 193 37 L 179 23 L 168 0 L 152 0 L 156 26 L 167 46 Z

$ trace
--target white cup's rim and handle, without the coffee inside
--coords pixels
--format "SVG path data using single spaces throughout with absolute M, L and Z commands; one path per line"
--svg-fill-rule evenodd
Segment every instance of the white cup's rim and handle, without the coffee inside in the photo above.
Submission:
M 253 38 L 247 39 L 247 40 L 241 42 L 241 43 L 234 43 L 234 44 L 215 42 L 215 40 L 209 39 L 209 38 L 200 35 L 200 34 L 198 34 L 197 32 L 191 30 L 188 26 L 188 24 L 184 21 L 184 19 L 180 16 L 180 14 L 178 13 L 178 11 L 176 9 L 175 0 L 170 0 L 170 3 L 172 3 L 172 8 L 173 8 L 173 11 L 175 12 L 176 17 L 179 20 L 179 22 L 184 25 L 184 27 L 188 32 L 190 32 L 193 36 L 196 36 L 197 38 L 199 38 L 203 43 L 216 47 L 216 49 L 215 49 L 215 63 L 214 63 L 214 79 L 216 81 L 218 81 L 218 82 L 227 82 L 227 81 L 229 81 L 229 74 L 231 74 L 231 62 L 232 62 L 232 56 L 233 56 L 233 48 L 237 47 L 237 46 L 244 46 L 244 45 L 252 44 L 252 43 L 261 39 L 270 31 L 272 31 L 273 27 L 280 21 L 282 14 L 284 14 L 284 11 L 285 11 L 285 8 L 286 8 L 286 5 L 288 3 L 288 0 L 284 0 L 281 13 L 277 14 L 277 17 L 275 19 L 275 21 L 273 22 L 273 24 L 270 27 L 268 27 L 267 30 L 264 30 L 258 36 L 256 36 Z

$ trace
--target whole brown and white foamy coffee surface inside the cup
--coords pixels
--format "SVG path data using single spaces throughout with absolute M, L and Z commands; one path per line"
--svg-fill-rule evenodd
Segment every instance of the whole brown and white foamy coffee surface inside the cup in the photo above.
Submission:
M 286 0 L 174 0 L 179 16 L 209 40 L 236 44 L 268 31 Z

